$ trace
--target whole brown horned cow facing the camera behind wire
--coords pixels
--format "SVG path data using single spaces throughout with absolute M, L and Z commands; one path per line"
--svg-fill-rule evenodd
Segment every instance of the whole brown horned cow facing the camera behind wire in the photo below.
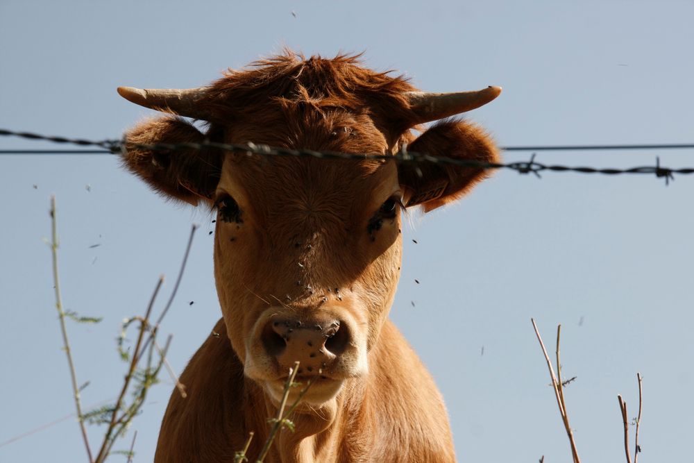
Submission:
M 347 153 L 411 151 L 496 162 L 468 122 L 420 124 L 496 98 L 427 94 L 355 57 L 305 60 L 287 52 L 190 90 L 119 88 L 165 116 L 131 143 L 255 142 Z M 168 198 L 216 210 L 214 273 L 222 318 L 180 380 L 155 461 L 232 462 L 248 432 L 260 452 L 289 367 L 314 383 L 266 462 L 453 462 L 437 387 L 387 318 L 400 275 L 400 209 L 458 199 L 481 169 L 369 159 L 263 158 L 214 149 L 130 146 L 128 169 Z M 299 388 L 300 389 L 300 388 Z M 294 401 L 293 389 L 289 401 Z

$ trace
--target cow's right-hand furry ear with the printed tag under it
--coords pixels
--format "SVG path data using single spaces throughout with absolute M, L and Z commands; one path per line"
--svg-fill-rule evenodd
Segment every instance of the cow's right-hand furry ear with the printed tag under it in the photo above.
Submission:
M 499 162 L 491 137 L 466 121 L 443 121 L 432 126 L 407 146 L 413 153 L 434 157 Z M 407 207 L 422 205 L 425 212 L 455 201 L 489 176 L 489 170 L 435 162 L 403 163 L 398 167 Z

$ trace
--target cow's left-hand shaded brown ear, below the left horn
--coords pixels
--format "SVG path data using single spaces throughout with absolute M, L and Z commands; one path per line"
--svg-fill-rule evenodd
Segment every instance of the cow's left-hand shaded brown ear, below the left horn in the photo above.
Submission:
M 189 122 L 168 116 L 149 119 L 126 133 L 123 164 L 163 196 L 192 205 L 212 201 L 219 183 L 221 154 L 211 149 L 146 149 L 134 144 L 202 143 Z

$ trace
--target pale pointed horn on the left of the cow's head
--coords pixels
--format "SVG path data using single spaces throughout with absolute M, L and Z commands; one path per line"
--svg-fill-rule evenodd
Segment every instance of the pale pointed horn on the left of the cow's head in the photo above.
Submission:
M 206 92 L 207 89 L 205 87 L 185 89 L 146 88 L 144 90 L 135 87 L 118 87 L 120 96 L 139 106 L 158 111 L 174 112 L 180 116 L 203 120 L 207 120 L 209 115 L 196 103 L 203 99 Z

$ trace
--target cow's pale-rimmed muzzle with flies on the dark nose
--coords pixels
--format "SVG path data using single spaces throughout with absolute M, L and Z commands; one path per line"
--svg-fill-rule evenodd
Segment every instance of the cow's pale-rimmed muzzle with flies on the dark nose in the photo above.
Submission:
M 366 335 L 357 326 L 342 310 L 266 310 L 249 339 L 246 376 L 261 382 L 271 397 L 280 400 L 289 369 L 299 362 L 298 382 L 311 382 L 304 400 L 324 403 L 337 395 L 346 379 L 368 370 Z

